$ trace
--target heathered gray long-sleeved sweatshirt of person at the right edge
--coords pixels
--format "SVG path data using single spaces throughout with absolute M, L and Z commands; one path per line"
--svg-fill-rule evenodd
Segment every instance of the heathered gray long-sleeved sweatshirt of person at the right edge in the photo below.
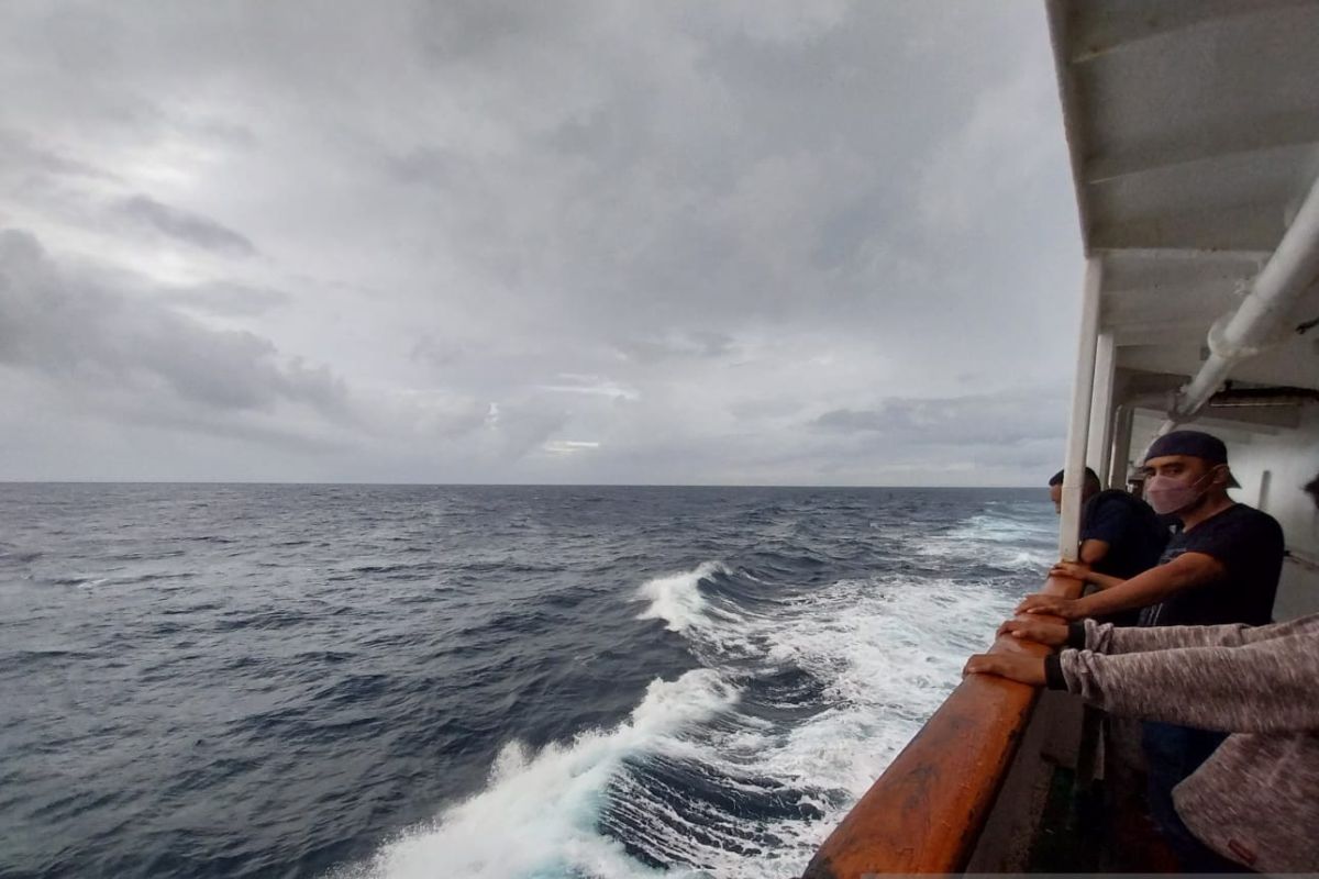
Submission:
M 1124 717 L 1231 733 L 1173 791 L 1186 826 L 1261 872 L 1319 871 L 1319 614 L 1272 626 L 1087 619 L 1049 685 Z

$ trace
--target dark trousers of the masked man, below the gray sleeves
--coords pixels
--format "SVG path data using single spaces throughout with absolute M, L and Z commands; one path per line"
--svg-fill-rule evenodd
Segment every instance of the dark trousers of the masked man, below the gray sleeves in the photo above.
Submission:
M 1174 723 L 1144 725 L 1141 743 L 1149 774 L 1150 817 L 1182 863 L 1183 872 L 1248 872 L 1200 842 L 1173 805 L 1173 788 L 1200 768 L 1227 738 L 1227 733 Z

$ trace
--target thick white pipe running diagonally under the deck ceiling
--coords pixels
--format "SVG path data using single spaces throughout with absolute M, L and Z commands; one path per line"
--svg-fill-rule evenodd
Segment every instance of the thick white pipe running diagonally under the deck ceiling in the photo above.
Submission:
M 1274 341 L 1291 306 L 1319 277 L 1319 178 L 1278 248 L 1250 286 L 1250 293 L 1225 322 L 1210 329 L 1210 357 L 1178 395 L 1177 407 L 1161 428 L 1195 418 L 1217 393 L 1232 366 Z

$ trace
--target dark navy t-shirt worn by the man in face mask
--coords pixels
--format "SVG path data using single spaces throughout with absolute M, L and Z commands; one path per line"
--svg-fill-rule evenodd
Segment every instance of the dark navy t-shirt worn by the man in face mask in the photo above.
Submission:
M 1216 582 L 1183 589 L 1141 611 L 1142 626 L 1265 626 L 1282 573 L 1282 527 L 1268 513 L 1235 503 L 1173 535 L 1159 564 L 1202 552 L 1227 569 Z

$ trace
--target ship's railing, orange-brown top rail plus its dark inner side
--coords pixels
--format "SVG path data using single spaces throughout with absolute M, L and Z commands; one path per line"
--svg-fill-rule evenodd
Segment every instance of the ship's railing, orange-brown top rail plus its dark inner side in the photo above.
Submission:
M 1082 582 L 1050 577 L 1042 592 L 1075 598 Z M 991 652 L 1045 656 L 1049 648 L 1000 637 Z M 1053 771 L 1075 768 L 1080 717 L 1066 693 L 964 677 L 834 829 L 803 879 L 1024 871 Z

